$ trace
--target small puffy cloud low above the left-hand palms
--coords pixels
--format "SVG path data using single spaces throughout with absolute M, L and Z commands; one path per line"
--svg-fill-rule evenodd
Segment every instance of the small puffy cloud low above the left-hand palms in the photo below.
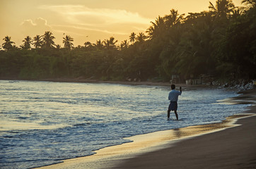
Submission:
M 47 20 L 43 18 L 37 18 L 35 21 L 31 19 L 24 20 L 21 23 L 21 30 L 22 32 L 30 32 L 33 34 L 42 34 L 47 30 L 52 30 L 50 25 L 47 25 Z

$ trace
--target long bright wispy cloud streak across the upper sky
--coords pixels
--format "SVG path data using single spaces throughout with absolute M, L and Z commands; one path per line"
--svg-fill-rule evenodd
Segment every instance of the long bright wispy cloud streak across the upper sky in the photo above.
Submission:
M 150 19 L 139 13 L 120 9 L 88 8 L 81 5 L 40 6 L 40 9 L 58 13 L 71 24 L 106 26 L 111 24 L 144 24 L 149 25 Z

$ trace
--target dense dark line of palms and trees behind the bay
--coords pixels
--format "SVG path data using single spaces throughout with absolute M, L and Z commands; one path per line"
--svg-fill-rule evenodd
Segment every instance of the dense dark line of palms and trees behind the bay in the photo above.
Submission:
M 158 16 L 144 33 L 134 32 L 117 45 L 114 37 L 85 42 L 63 38 L 64 48 L 54 43 L 52 32 L 25 37 L 15 46 L 5 37 L 0 51 L 0 77 L 39 79 L 83 77 L 100 80 L 146 80 L 171 75 L 182 79 L 209 74 L 219 78 L 256 78 L 256 1 L 231 0 L 209 3 L 209 11 L 185 17 L 174 9 Z

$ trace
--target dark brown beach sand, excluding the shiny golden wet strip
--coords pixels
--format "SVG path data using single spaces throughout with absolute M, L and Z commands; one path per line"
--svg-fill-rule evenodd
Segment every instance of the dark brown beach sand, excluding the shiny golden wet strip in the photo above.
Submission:
M 256 90 L 230 99 L 255 103 Z M 233 127 L 166 145 L 165 149 L 129 158 L 112 168 L 256 168 L 256 106 Z

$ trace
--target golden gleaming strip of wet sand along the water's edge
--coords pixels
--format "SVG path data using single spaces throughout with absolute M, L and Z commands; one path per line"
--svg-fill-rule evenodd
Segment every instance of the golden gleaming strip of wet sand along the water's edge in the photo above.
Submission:
M 130 139 L 132 142 L 107 146 L 103 149 L 95 151 L 96 154 L 91 156 L 83 156 L 78 158 L 70 158 L 63 160 L 61 163 L 46 165 L 39 167 L 40 169 L 103 169 L 103 168 L 150 168 L 150 166 L 130 166 L 131 160 L 137 159 L 138 156 L 145 156 L 147 154 L 158 153 L 164 151 L 166 148 L 175 146 L 179 142 L 184 142 L 190 139 L 197 139 L 197 137 L 207 134 L 228 130 L 233 127 L 240 126 L 236 122 L 243 118 L 251 118 L 256 115 L 252 113 L 244 113 L 239 115 L 232 115 L 222 123 L 213 123 L 208 125 L 194 125 L 190 127 L 178 128 L 174 130 L 163 130 L 158 132 L 151 132 L 148 134 L 139 134 Z M 166 147 L 165 147 L 166 146 Z M 159 159 L 158 159 L 159 160 Z M 140 163 L 139 160 L 137 163 Z M 146 160 L 147 161 L 147 160 Z M 128 165 L 127 165 L 128 164 Z M 154 168 L 157 168 L 156 166 Z

